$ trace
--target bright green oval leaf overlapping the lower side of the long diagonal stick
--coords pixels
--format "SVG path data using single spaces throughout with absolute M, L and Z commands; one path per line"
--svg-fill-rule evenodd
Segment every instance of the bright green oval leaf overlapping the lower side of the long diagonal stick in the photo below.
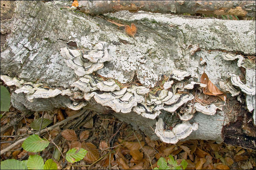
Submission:
M 48 140 L 43 140 L 38 135 L 33 134 L 24 140 L 22 147 L 28 152 L 40 152 L 44 150 L 49 143 L 50 142 Z

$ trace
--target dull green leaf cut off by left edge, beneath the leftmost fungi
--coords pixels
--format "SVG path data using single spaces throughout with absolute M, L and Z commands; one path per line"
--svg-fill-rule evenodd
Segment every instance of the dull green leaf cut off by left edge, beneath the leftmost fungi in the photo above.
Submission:
M 11 104 L 11 96 L 6 87 L 0 86 L 0 110 L 2 112 L 9 112 Z

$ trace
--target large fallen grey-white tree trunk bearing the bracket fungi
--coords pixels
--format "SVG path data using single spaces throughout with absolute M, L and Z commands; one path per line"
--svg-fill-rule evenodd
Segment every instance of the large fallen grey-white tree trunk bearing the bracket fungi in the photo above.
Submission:
M 61 7 L 60 4 L 56 4 L 58 9 L 55 9 L 49 2 L 11 1 L 5 6 L 4 3 L 1 1 L 1 80 L 13 90 L 11 102 L 17 109 L 46 111 L 55 107 L 73 109 L 84 107 L 99 113 L 111 113 L 118 119 L 130 123 L 135 129 L 142 130 L 152 139 L 159 139 L 153 134 L 152 129 L 155 130 L 156 122 L 160 118 L 169 126 L 173 126 L 175 123 L 180 123 L 177 114 L 182 114 L 186 109 L 185 106 L 193 104 L 194 107 L 195 103 L 200 102 L 205 105 L 214 103 L 222 111 L 217 111 L 212 116 L 196 112 L 189 122 L 198 123 L 198 130 L 193 131 L 183 140 L 216 140 L 255 149 L 255 63 L 247 57 L 235 59 L 237 56 L 235 54 L 238 53 L 244 56 L 255 55 L 255 21 L 200 19 L 128 11 L 108 13 L 99 17 Z M 6 13 L 9 15 L 5 15 Z M 2 18 L 2 15 L 6 17 Z M 128 29 L 125 32 L 123 27 L 118 27 L 114 23 L 129 26 L 134 23 L 137 33 L 132 38 L 126 34 L 129 33 Z M 199 48 L 195 44 L 199 44 L 201 51 L 198 51 Z M 85 66 L 78 68 L 74 64 L 80 56 L 73 60 L 68 58 L 78 53 L 81 56 L 88 56 L 91 53 L 98 56 L 101 52 L 107 59 L 100 62 L 102 58 L 93 58 L 92 60 L 99 61 L 89 63 L 95 67 L 97 65 L 98 70 L 90 73 L 81 70 Z M 231 56 L 231 59 L 226 56 Z M 242 61 L 240 62 L 242 66 L 238 67 L 238 61 Z M 240 75 L 246 85 L 235 86 L 234 90 L 240 91 L 240 94 L 231 96 L 227 93 L 226 102 L 217 96 L 204 95 L 202 87 L 198 87 L 197 90 L 196 87 L 194 89 L 179 87 L 181 84 L 191 85 L 192 81 L 200 83 L 203 72 L 207 73 L 211 82 L 217 87 L 219 82 L 227 84 L 235 78 L 232 77 L 233 74 Z M 232 74 L 228 74 L 231 78 L 227 75 L 228 72 Z M 188 76 L 184 76 L 185 79 L 174 78 L 180 73 L 182 75 L 186 73 Z M 7 80 L 3 75 L 8 75 L 13 80 Z M 82 78 L 86 76 L 89 76 L 91 81 L 97 81 L 97 85 L 88 86 L 89 90 L 77 88 L 74 83 L 83 80 Z M 173 105 L 177 106 L 177 109 L 175 112 L 168 112 L 163 109 L 168 104 L 163 104 L 161 100 L 162 103 L 159 104 L 161 114 L 154 119 L 143 117 L 137 113 L 138 111 L 134 111 L 134 108 L 143 104 L 148 108 L 157 106 L 145 103 L 144 98 L 147 99 L 146 101 L 153 101 L 154 96 L 160 98 L 159 92 L 163 91 L 162 84 L 168 76 L 171 78 L 170 81 L 174 81 L 172 88 L 168 89 L 168 95 L 173 94 L 174 97 L 187 95 L 191 97 L 187 104 L 184 102 L 182 106 L 177 106 L 180 101 L 175 98 Z M 190 78 L 187 78 L 189 76 Z M 102 103 L 95 98 L 97 95 L 111 94 L 100 88 L 99 84 L 103 81 L 100 77 L 104 80 L 112 78 L 108 81 L 115 81 L 113 87 L 120 90 L 127 87 L 127 91 L 131 91 L 127 94 L 135 95 L 132 85 L 138 84 L 144 86 L 143 89 L 150 89 L 150 92 L 133 95 L 131 98 L 136 99 L 133 108 L 122 107 L 117 113 L 115 111 L 118 109 L 110 106 L 109 102 Z M 25 91 L 14 92 L 22 87 L 25 88 L 25 84 L 28 83 L 30 85 L 27 87 L 33 86 L 34 90 L 30 91 L 30 94 Z M 53 95 L 51 92 L 50 96 L 41 93 L 36 97 L 36 93 L 44 90 L 39 83 L 43 84 L 47 93 L 50 93 L 49 89 L 59 93 Z M 244 92 L 245 86 L 249 91 L 251 90 L 250 93 Z M 63 90 L 68 89 L 70 89 L 69 94 L 68 92 L 64 94 Z M 153 94 L 156 91 L 158 92 Z M 86 101 L 86 95 L 92 95 L 91 99 Z M 116 99 L 112 101 L 114 100 Z M 129 102 L 127 101 L 128 104 Z

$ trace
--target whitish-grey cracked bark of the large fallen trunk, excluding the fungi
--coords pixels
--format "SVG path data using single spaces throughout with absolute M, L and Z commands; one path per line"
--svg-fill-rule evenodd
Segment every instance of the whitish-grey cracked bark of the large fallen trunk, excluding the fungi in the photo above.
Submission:
M 200 64 L 201 60 L 207 63 L 205 73 L 211 82 L 219 87 L 219 81 L 228 80 L 227 72 L 242 74 L 237 61 L 223 60 L 223 55 L 227 53 L 255 55 L 255 21 L 198 19 L 171 14 L 127 11 L 104 15 L 104 18 L 111 18 L 124 25 L 134 23 L 137 34 L 133 39 L 123 28 L 104 18 L 89 16 L 63 7 L 56 10 L 52 3 L 15 1 L 13 9 L 14 13 L 10 19 L 1 18 L 1 42 L 2 35 L 6 35 L 4 43 L 1 43 L 1 75 L 17 77 L 26 82 L 43 83 L 52 89 L 68 88 L 74 94 L 81 96 L 83 95 L 81 90 L 71 87 L 79 77 L 66 65 L 60 55 L 61 48 L 93 49 L 99 41 L 104 41 L 108 43 L 108 52 L 113 60 L 105 62 L 104 67 L 96 73 L 127 85 L 138 79 L 141 85 L 152 89 L 159 88 L 161 75 L 169 76 L 173 70 L 194 73 L 198 75 L 194 80 L 200 82 L 204 67 Z M 77 47 L 74 47 L 74 43 L 70 44 L 71 41 L 75 42 Z M 201 51 L 191 55 L 188 47 L 193 44 L 199 44 Z M 246 58 L 244 61 L 251 62 Z M 255 72 L 255 66 L 250 69 Z M 188 83 L 187 79 L 183 81 Z M 13 89 L 15 90 L 15 87 Z M 194 94 L 193 90 L 189 92 Z M 236 97 L 228 94 L 224 105 L 224 102 L 218 101 L 217 97 L 205 96 L 198 91 L 199 98 L 223 105 L 221 106 L 223 112 L 218 111 L 214 116 L 196 113 L 190 122 L 198 122 L 199 128 L 185 140 L 225 141 L 255 149 L 252 147 L 253 144 L 251 145 L 255 143 L 252 113 L 242 108 L 246 108 L 245 96 L 243 92 L 240 93 L 239 97 L 243 102 L 240 103 Z M 47 99 L 37 98 L 29 102 L 24 93 L 17 94 L 12 91 L 11 102 L 20 110 L 45 111 L 54 107 L 66 107 L 65 103 L 71 102 L 74 98 L 84 101 L 79 97 L 58 95 Z M 120 120 L 132 124 L 135 129 L 141 129 L 152 139 L 158 139 L 156 135 L 151 135 L 153 133 L 151 127 L 155 127 L 156 119 L 147 119 L 135 112 L 115 113 L 109 107 L 96 103 L 94 99 L 88 101 L 85 107 L 99 113 L 111 113 Z M 177 119 L 175 114 L 172 116 L 166 111 L 162 111 L 159 117 L 166 121 Z M 237 122 L 240 123 L 239 126 L 234 125 Z M 250 140 L 250 145 L 247 145 L 248 142 L 235 143 L 234 138 L 232 142 L 227 140 L 230 136 L 228 135 L 230 127 L 239 132 L 233 136 L 243 135 Z

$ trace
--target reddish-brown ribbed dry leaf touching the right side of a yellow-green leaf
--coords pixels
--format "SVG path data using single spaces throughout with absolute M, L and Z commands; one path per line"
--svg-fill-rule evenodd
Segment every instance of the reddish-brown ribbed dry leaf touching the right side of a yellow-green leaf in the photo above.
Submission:
M 84 157 L 84 160 L 88 163 L 93 163 L 96 161 L 99 157 L 99 151 L 95 145 L 91 142 L 82 142 L 82 148 L 84 148 L 87 152 L 87 154 Z

